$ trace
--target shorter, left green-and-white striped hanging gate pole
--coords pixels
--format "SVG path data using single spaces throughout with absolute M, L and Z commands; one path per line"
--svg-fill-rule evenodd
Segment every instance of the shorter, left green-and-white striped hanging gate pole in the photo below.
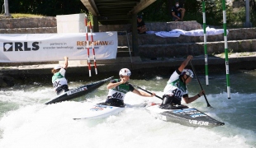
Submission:
M 208 59 L 207 59 L 207 42 L 206 42 L 206 4 L 202 1 L 202 22 L 203 22 L 203 36 L 204 36 L 204 49 L 205 49 L 205 63 L 206 63 L 206 86 L 209 85 L 208 79 Z

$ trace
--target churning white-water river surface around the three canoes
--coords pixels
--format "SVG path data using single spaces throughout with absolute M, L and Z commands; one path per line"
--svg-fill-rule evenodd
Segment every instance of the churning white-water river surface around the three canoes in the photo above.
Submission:
M 161 96 L 167 80 L 156 76 L 149 81 L 131 80 L 131 83 Z M 125 99 L 131 107 L 116 116 L 94 121 L 73 120 L 107 98 L 106 85 L 87 96 L 50 105 L 44 104 L 55 96 L 50 86 L 2 90 L 0 147 L 256 147 L 256 94 L 250 88 L 240 90 L 238 86 L 242 84 L 237 84 L 233 85 L 231 99 L 227 99 L 225 86 L 221 86 L 223 81 L 210 82 L 206 96 L 213 108 L 206 107 L 203 97 L 189 106 L 224 122 L 222 127 L 186 127 L 155 119 L 144 106 L 147 102 L 160 103 L 161 100 L 133 93 L 128 93 Z M 196 81 L 187 87 L 189 95 L 196 95 L 200 90 Z

